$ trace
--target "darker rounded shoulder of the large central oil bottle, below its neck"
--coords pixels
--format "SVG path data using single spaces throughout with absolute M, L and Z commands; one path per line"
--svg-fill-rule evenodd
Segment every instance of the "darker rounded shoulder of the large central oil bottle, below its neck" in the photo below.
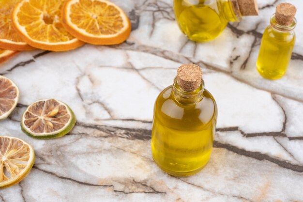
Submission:
M 212 94 L 204 90 L 203 98 L 195 104 L 180 104 L 174 97 L 172 86 L 168 86 L 158 96 L 154 106 L 154 116 L 164 124 L 206 125 L 217 119 L 217 105 Z

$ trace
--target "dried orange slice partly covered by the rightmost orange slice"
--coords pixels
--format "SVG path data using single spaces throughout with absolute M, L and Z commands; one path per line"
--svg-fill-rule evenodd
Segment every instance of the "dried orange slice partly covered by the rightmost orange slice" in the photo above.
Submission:
M 84 43 L 68 33 L 61 23 L 64 0 L 21 0 L 13 11 L 15 30 L 30 46 L 64 51 Z

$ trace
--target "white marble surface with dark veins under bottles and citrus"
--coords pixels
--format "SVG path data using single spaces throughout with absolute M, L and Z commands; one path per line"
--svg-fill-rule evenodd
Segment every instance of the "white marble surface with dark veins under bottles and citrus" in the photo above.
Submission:
M 259 0 L 258 17 L 229 24 L 208 43 L 182 35 L 172 0 L 113 1 L 132 22 L 125 43 L 23 52 L 1 64 L 0 74 L 21 93 L 14 113 L 0 122 L 1 135 L 30 142 L 36 161 L 21 183 L 0 190 L 0 202 L 303 202 L 302 9 L 287 75 L 270 81 L 255 62 L 262 32 L 285 1 Z M 207 167 L 178 178 L 152 161 L 152 110 L 188 62 L 202 67 L 218 124 Z M 42 98 L 75 111 L 69 135 L 34 140 L 21 132 L 21 113 Z

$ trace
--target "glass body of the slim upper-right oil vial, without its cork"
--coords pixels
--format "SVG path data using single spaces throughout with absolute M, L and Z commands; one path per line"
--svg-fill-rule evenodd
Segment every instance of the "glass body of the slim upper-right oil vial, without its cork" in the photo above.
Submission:
M 257 60 L 257 70 L 262 77 L 278 79 L 285 75 L 296 40 L 295 22 L 293 24 L 288 29 L 277 29 L 272 16 L 271 25 L 264 31 Z

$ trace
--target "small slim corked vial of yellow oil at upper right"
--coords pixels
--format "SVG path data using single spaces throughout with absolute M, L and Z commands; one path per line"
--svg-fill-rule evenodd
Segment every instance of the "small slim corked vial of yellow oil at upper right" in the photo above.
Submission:
M 257 60 L 257 70 L 264 78 L 278 79 L 286 73 L 296 40 L 296 11 L 290 3 L 280 3 L 264 31 Z

